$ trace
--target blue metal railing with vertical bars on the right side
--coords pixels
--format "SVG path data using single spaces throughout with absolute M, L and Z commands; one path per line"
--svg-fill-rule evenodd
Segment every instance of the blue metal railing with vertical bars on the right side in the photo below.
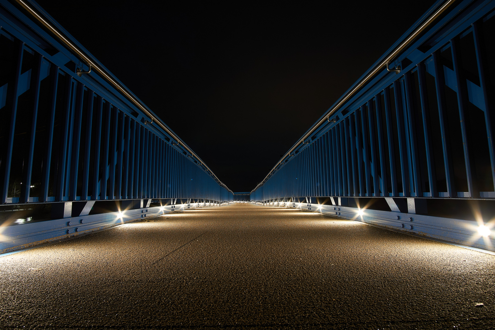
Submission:
M 449 7 L 408 41 L 447 2 Z M 250 199 L 307 204 L 313 210 L 312 204 L 327 203 L 332 214 L 344 216 L 334 211 L 351 204 L 359 208 L 360 198 L 383 197 L 389 212 L 404 217 L 421 213 L 414 205 L 424 208 L 420 204 L 426 200 L 495 198 L 494 7 L 494 1 L 434 4 L 301 137 Z M 390 67 L 400 73 L 384 65 L 395 53 Z M 346 212 L 356 218 L 356 212 Z M 390 215 L 372 217 L 376 224 L 413 228 L 400 215 L 395 223 L 380 220 Z M 433 233 L 423 227 L 410 231 Z M 471 239 L 466 237 L 456 239 Z

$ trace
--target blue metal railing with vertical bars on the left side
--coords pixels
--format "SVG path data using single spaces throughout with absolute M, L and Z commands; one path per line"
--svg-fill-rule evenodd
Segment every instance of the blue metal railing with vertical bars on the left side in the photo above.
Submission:
M 9 211 L 36 204 L 51 205 L 52 219 L 83 224 L 105 200 L 119 212 L 233 200 L 198 155 L 37 3 L 1 0 L 0 27 L 3 228 L 15 220 Z M 107 218 L 115 215 L 98 219 Z

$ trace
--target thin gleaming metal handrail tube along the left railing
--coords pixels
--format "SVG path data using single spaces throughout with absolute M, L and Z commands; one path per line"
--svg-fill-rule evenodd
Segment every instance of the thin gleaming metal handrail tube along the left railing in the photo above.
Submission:
M 196 158 L 198 158 L 198 160 L 200 159 L 198 157 L 198 155 L 196 155 L 196 153 L 194 153 L 187 145 L 186 143 L 184 143 L 184 141 L 182 141 L 181 139 L 179 139 L 178 136 L 176 136 L 170 129 L 168 129 L 166 127 L 166 125 L 164 123 L 162 123 L 162 121 L 155 117 L 151 112 L 148 111 L 148 109 L 145 107 L 145 105 L 143 105 L 140 101 L 138 101 L 136 98 L 134 98 L 130 93 L 130 91 L 128 92 L 128 89 L 125 88 L 124 86 L 121 86 L 118 82 L 116 82 L 114 79 L 112 79 L 112 77 L 110 77 L 111 73 L 109 72 L 106 72 L 106 70 L 104 70 L 103 68 L 100 68 L 96 63 L 95 61 L 92 60 L 92 58 L 90 58 L 90 56 L 87 56 L 81 49 L 79 49 L 78 47 L 76 47 L 75 45 L 73 45 L 69 40 L 67 40 L 63 35 L 62 33 L 60 33 L 57 29 L 55 29 L 53 26 L 51 26 L 51 24 L 49 24 L 49 22 L 47 22 L 47 20 L 45 20 L 43 17 L 41 17 L 35 10 L 33 10 L 26 2 L 24 2 L 23 0 L 16 0 L 17 3 L 19 3 L 24 9 L 26 9 L 34 18 L 36 18 L 36 20 L 38 20 L 38 22 L 40 22 L 41 24 L 43 24 L 47 29 L 49 29 L 50 32 L 52 32 L 58 39 L 60 42 L 62 42 L 62 44 L 64 44 L 65 46 L 69 47 L 70 50 L 72 50 L 75 54 L 77 54 L 84 62 L 86 62 L 89 67 L 90 67 L 90 71 L 91 69 L 94 69 L 96 72 L 98 72 L 102 77 L 103 79 L 105 79 L 108 83 L 110 83 L 113 87 L 115 87 L 118 91 L 120 91 L 122 94 L 124 94 L 124 96 L 126 96 L 131 102 L 133 102 L 138 108 L 140 108 L 142 111 L 145 112 L 145 114 L 151 118 L 151 121 L 153 121 L 154 119 L 154 122 L 156 124 L 158 124 L 163 130 L 165 130 L 165 132 L 167 132 L 173 139 L 175 139 L 177 142 L 180 142 L 180 144 L 185 148 L 187 149 L 191 154 L 193 154 Z M 81 72 L 81 73 L 89 73 L 90 71 L 88 72 Z M 79 74 L 78 74 L 79 75 Z M 148 124 L 148 123 L 147 123 Z M 227 188 L 227 186 L 225 186 L 225 184 L 223 184 L 215 174 L 213 174 L 213 172 L 208 168 L 208 166 L 206 166 L 204 164 L 203 161 L 201 161 L 202 165 L 204 165 L 206 167 L 206 169 L 211 173 L 211 175 L 215 178 L 215 180 L 221 185 L 223 186 L 225 189 L 227 189 L 229 192 L 232 192 L 232 190 L 230 190 L 229 188 Z

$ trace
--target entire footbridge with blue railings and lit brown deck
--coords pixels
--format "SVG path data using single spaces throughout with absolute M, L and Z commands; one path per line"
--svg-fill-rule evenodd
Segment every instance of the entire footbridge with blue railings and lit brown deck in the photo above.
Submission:
M 493 328 L 494 16 L 433 4 L 233 192 L 37 3 L 0 0 L 0 328 Z

